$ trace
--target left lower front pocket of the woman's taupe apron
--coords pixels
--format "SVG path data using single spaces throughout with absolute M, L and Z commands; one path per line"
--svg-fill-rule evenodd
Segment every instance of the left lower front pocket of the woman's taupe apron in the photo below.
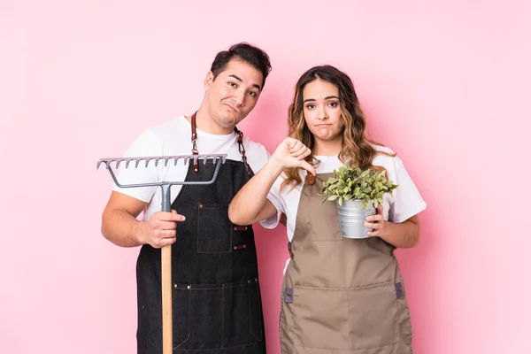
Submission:
M 349 290 L 293 289 L 294 340 L 315 349 L 349 349 Z

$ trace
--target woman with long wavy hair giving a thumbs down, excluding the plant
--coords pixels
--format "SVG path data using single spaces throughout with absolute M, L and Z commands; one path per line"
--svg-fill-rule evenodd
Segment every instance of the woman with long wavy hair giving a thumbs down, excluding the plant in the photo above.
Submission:
M 399 187 L 366 219 L 365 239 L 343 238 L 323 181 L 345 162 L 385 169 Z M 292 353 L 411 353 L 412 326 L 399 247 L 419 240 L 426 208 L 400 158 L 366 136 L 352 81 L 330 65 L 308 70 L 289 106 L 289 138 L 235 196 L 229 218 L 276 227 L 287 217 L 290 258 L 281 295 L 281 350 Z M 338 351 L 340 350 L 340 351 Z

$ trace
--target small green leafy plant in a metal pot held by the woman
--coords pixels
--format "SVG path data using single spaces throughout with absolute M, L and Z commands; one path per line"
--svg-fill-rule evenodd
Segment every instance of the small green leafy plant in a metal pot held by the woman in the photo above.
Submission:
M 385 193 L 393 194 L 398 187 L 386 177 L 385 170 L 361 170 L 346 163 L 334 170 L 334 177 L 323 183 L 321 193 L 326 201 L 335 201 L 342 235 L 347 238 L 366 238 L 373 229 L 365 227 L 366 217 L 376 213 L 383 204 Z

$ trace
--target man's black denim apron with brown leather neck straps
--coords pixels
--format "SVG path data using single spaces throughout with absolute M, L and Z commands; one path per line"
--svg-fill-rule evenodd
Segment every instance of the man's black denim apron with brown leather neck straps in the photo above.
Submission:
M 194 142 L 195 128 L 193 117 Z M 242 135 L 238 142 L 244 157 Z M 186 216 L 177 223 L 172 247 L 174 352 L 266 353 L 253 230 L 233 225 L 227 214 L 233 196 L 252 176 L 243 161 L 227 159 L 212 185 L 185 185 L 172 204 Z M 212 163 L 189 164 L 186 181 L 209 181 L 214 169 Z M 138 353 L 160 354 L 160 250 L 142 246 L 136 272 Z

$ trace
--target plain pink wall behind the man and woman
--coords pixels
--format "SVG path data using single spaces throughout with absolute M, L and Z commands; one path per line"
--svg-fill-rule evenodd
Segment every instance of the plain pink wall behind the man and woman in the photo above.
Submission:
M 428 4 L 429 3 L 429 4 Z M 0 1 L 0 353 L 135 352 L 135 258 L 100 234 L 144 128 L 193 112 L 217 51 L 273 60 L 241 128 L 273 150 L 298 76 L 350 74 L 427 201 L 400 250 L 420 354 L 531 352 L 528 1 Z M 258 230 L 269 353 L 284 229 Z

